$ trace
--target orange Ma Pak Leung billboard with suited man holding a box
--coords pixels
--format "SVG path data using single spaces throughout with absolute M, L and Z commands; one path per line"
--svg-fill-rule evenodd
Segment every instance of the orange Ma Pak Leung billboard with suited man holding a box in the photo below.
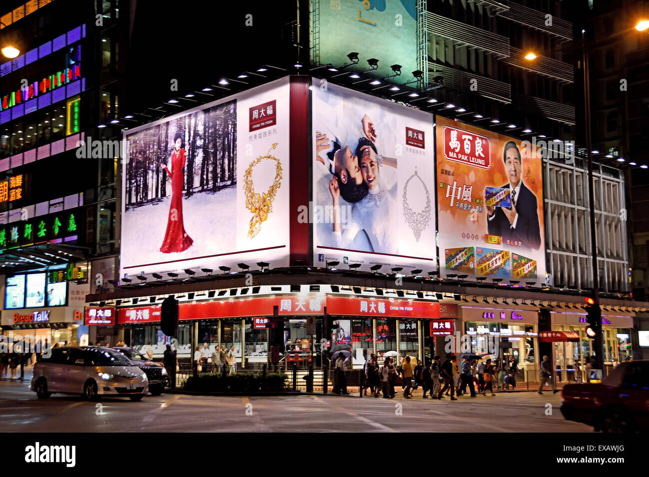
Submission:
M 436 119 L 442 276 L 544 283 L 541 154 L 524 141 Z

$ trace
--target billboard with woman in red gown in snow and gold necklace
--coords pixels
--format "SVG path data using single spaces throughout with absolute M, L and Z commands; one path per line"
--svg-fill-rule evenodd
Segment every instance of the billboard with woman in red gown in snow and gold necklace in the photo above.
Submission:
M 288 265 L 288 117 L 287 78 L 127 131 L 121 276 Z

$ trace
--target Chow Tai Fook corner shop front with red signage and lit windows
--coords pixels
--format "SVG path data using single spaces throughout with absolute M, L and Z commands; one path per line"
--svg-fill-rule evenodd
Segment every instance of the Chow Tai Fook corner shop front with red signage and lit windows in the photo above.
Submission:
M 454 304 L 328 295 L 181 302 L 178 310 L 181 361 L 191 360 L 203 343 L 210 355 L 217 346 L 234 346 L 238 369 L 321 366 L 323 340 L 334 355 L 351 358 L 350 367 L 362 367 L 373 352 L 380 361 L 388 352 L 422 359 L 430 323 L 440 315 L 447 321 L 457 317 Z M 127 344 L 146 350 L 151 343 L 154 358 L 162 358 L 171 344 L 160 329 L 159 305 L 118 308 L 117 324 Z

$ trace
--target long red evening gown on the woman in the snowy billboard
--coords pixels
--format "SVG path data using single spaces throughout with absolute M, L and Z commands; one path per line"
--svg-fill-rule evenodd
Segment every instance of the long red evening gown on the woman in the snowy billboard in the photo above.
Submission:
M 178 149 L 171 153 L 171 171 L 165 166 L 165 170 L 171 177 L 171 205 L 169 206 L 169 218 L 167 219 L 167 231 L 160 247 L 160 252 L 182 252 L 191 247 L 194 241 L 185 232 L 182 221 L 182 186 L 184 176 L 182 168 L 185 167 L 185 150 Z M 175 220 L 172 220 L 175 219 Z

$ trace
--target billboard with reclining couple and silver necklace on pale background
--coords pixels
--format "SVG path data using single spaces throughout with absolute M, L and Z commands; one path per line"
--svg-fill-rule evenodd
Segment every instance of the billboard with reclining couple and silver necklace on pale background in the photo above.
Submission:
M 313 263 L 434 270 L 432 115 L 312 86 Z

